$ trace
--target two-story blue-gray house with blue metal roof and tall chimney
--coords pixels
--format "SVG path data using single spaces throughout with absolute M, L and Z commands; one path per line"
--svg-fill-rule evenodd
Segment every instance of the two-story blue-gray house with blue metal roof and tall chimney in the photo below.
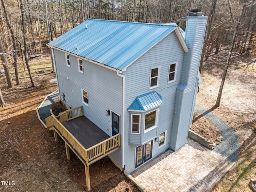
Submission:
M 133 172 L 168 148 L 186 144 L 192 123 L 207 16 L 177 24 L 88 19 L 48 44 L 60 99 L 120 149 L 108 154 Z M 74 119 L 75 120 L 75 119 Z

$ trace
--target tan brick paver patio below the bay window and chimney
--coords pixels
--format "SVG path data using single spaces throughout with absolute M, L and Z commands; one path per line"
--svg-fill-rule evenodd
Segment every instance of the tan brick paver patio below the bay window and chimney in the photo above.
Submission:
M 188 138 L 131 173 L 148 192 L 208 192 L 233 166 L 227 158 Z

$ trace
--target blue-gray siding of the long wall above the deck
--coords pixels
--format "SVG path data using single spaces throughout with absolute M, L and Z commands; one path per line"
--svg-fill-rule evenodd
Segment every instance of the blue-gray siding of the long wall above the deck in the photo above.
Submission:
M 120 115 L 122 124 L 122 78 L 116 72 L 83 60 L 84 73 L 78 71 L 77 57 L 70 55 L 70 66 L 66 66 L 65 53 L 54 50 L 56 74 L 60 96 L 65 94 L 66 102 L 72 107 L 84 107 L 84 116 L 111 136 L 112 110 Z M 82 90 L 88 92 L 88 105 L 82 102 Z M 121 126 L 120 126 L 121 132 Z

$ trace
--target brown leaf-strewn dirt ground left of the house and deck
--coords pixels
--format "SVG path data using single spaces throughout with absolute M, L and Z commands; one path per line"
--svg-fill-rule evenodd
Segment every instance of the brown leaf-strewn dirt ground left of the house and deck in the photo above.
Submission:
M 43 60 L 49 63 L 50 57 Z M 85 191 L 84 164 L 72 151 L 68 161 L 62 139 L 54 142 L 53 132 L 38 120 L 36 108 L 57 89 L 49 81 L 55 76 L 51 65 L 40 63 L 41 59 L 31 63 L 38 65 L 32 70 L 36 87 L 25 77 L 22 85 L 7 89 L 2 87 L 5 77 L 0 76 L 4 101 L 9 104 L 0 108 L 0 181 L 8 182 L 0 183 L 0 191 Z M 108 157 L 90 165 L 90 182 L 92 192 L 140 191 Z

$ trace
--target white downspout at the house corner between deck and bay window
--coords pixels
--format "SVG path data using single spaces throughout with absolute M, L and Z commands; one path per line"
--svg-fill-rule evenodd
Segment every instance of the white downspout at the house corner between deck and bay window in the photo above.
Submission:
M 122 173 L 124 172 L 124 86 L 125 86 L 125 76 L 121 74 L 122 72 L 116 72 L 116 74 L 122 77 Z

